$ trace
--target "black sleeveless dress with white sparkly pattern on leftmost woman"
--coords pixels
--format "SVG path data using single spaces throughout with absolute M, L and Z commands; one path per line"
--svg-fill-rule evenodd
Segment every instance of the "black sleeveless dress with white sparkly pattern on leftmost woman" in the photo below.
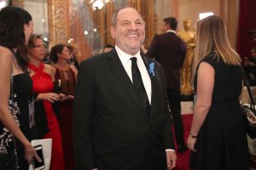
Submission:
M 12 92 L 10 92 L 12 95 Z M 9 98 L 9 110 L 13 112 L 15 121 L 20 126 L 20 130 L 26 138 L 31 141 L 38 139 L 36 127 L 29 127 L 29 109 L 28 105 L 32 101 L 32 79 L 27 73 L 21 73 L 13 77 L 13 97 Z M 12 104 L 10 102 L 13 102 Z M 15 150 L 12 134 L 0 122 L 0 155 L 7 154 Z M 28 163 L 25 159 L 24 146 L 18 139 L 15 139 L 18 164 L 20 169 L 28 169 Z

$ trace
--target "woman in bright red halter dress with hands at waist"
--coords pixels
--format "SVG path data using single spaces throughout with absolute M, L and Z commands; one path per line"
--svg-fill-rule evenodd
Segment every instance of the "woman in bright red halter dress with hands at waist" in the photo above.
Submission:
M 32 35 L 30 37 L 28 54 L 30 55 L 28 67 L 32 77 L 33 92 L 38 94 L 37 100 L 43 100 L 47 117 L 49 133 L 44 135 L 44 139 L 52 139 L 50 170 L 64 170 L 61 131 L 52 105 L 60 99 L 60 94 L 53 93 L 55 68 L 42 62 L 44 59 L 44 42 L 41 36 Z M 37 114 L 37 111 L 35 113 Z

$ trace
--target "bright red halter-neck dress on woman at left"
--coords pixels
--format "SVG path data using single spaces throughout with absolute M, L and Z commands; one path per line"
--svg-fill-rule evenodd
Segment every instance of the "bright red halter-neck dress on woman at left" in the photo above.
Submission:
M 44 63 L 40 63 L 39 68 L 29 64 L 29 68 L 35 72 L 32 76 L 33 92 L 50 93 L 53 92 L 54 83 L 49 74 L 44 72 Z M 47 116 L 49 133 L 44 136 L 44 139 L 52 139 L 52 154 L 50 161 L 50 170 L 64 170 L 64 158 L 61 141 L 61 131 L 59 123 L 55 116 L 52 104 L 48 100 L 44 100 L 44 110 Z

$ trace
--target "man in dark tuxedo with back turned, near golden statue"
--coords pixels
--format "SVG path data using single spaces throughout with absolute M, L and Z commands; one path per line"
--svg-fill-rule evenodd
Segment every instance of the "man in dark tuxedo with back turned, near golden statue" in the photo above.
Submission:
M 180 70 L 186 55 L 186 43 L 176 35 L 177 20 L 174 17 L 165 18 L 162 31 L 151 42 L 147 56 L 154 58 L 163 66 L 167 96 L 172 111 L 175 137 L 178 152 L 187 150 L 184 143 L 183 119 L 181 116 Z

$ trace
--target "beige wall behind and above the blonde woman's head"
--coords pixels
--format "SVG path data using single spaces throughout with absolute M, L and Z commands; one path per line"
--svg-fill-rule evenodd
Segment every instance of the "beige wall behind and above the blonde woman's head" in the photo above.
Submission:
M 182 29 L 182 22 L 186 18 L 195 25 L 200 13 L 213 12 L 224 19 L 230 43 L 236 48 L 238 5 L 239 0 L 178 0 L 177 20 L 180 23 L 178 29 Z

